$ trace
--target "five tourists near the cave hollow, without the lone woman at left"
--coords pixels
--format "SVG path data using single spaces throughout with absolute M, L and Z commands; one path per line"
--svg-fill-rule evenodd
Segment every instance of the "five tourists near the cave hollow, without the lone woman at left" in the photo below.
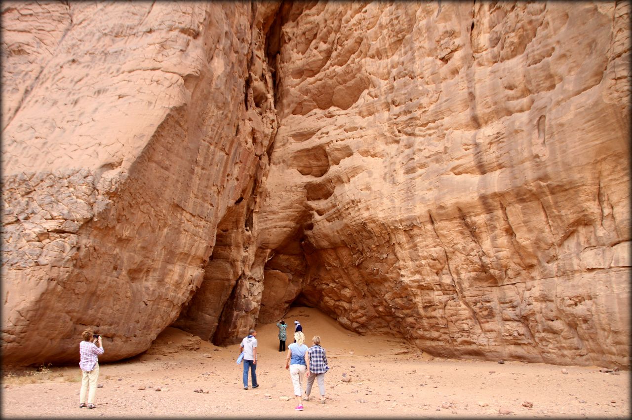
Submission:
M 312 347 L 305 345 L 305 335 L 300 322 L 295 321 L 294 342 L 288 346 L 285 358 L 285 368 L 289 370 L 292 379 L 297 411 L 303 410 L 303 398 L 308 401 L 312 393 L 314 380 L 317 380 L 320 390 L 320 404 L 325 404 L 325 373 L 329 370 L 327 354 L 320 346 L 320 337 L 314 335 Z M 277 322 L 279 328 L 279 351 L 285 351 L 288 324 L 284 320 Z M 240 358 L 243 358 L 243 388 L 248 389 L 248 370 L 252 377 L 252 387 L 257 388 L 257 330 L 250 330 L 240 344 Z M 239 359 L 238 359 L 239 360 Z M 304 377 L 307 378 L 305 397 L 303 397 Z

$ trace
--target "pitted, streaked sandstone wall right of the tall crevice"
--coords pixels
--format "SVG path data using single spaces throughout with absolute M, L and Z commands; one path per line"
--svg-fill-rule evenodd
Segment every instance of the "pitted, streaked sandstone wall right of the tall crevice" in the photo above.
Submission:
M 307 272 L 303 302 L 432 354 L 628 365 L 628 4 L 279 19 L 260 246 L 307 269 L 270 283 Z

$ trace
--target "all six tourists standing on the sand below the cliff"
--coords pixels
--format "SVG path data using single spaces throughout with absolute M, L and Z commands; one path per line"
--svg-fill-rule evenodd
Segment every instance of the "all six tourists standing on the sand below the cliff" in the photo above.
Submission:
M 289 370 L 292 379 L 294 395 L 296 397 L 296 410 L 303 410 L 303 399 L 308 401 L 315 380 L 320 390 L 320 404 L 325 404 L 325 373 L 327 355 L 325 349 L 320 346 L 320 337 L 314 335 L 312 347 L 305 345 L 305 335 L 300 322 L 295 321 L 294 342 L 288 346 L 288 354 L 285 358 L 285 368 Z M 288 325 L 284 320 L 277 322 L 279 327 L 279 351 L 285 351 L 287 339 L 286 329 Z M 101 336 L 87 329 L 82 334 L 83 341 L 79 344 L 80 361 L 82 369 L 82 385 L 79 393 L 79 407 L 93 409 L 95 394 L 97 392 L 97 380 L 99 379 L 99 354 L 104 353 Z M 98 346 L 97 346 L 98 344 Z M 252 378 L 252 387 L 258 388 L 257 382 L 257 330 L 251 329 L 240 344 L 240 358 L 243 361 L 243 388 L 248 389 L 248 371 Z M 307 378 L 305 397 L 303 397 L 303 385 Z M 87 396 L 87 401 L 86 401 Z

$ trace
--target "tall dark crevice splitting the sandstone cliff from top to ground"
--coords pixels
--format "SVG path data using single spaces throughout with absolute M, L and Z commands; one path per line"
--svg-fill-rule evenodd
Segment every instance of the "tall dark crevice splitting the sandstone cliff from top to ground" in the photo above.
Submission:
M 283 23 L 281 13 L 269 13 L 263 16 L 264 21 L 256 22 L 257 10 L 252 9 L 252 40 L 248 48 L 246 66 L 248 76 L 244 79 L 244 105 L 247 110 L 254 110 L 262 122 L 272 117 L 269 131 L 252 131 L 255 153 L 259 158 L 258 168 L 252 173 L 252 180 L 243 186 L 236 195 L 234 206 L 227 209 L 224 218 L 217 226 L 215 246 L 209 262 L 205 265 L 204 281 L 195 292 L 187 306 L 181 312 L 174 327 L 199 335 L 204 340 L 212 341 L 218 346 L 238 342 L 244 330 L 253 327 L 257 321 L 257 313 L 264 303 L 259 302 L 253 284 L 265 279 L 252 276 L 248 272 L 245 255 L 253 249 L 252 238 L 255 237 L 255 211 L 258 206 L 257 196 L 261 193 L 262 178 L 267 166 L 263 152 L 270 158 L 274 148 L 278 117 L 274 105 L 276 93 L 276 54 L 279 49 L 280 25 Z M 256 26 L 255 26 L 256 25 Z M 260 26 L 259 26 L 260 25 Z M 276 35 L 274 35 L 276 33 Z M 257 35 L 260 34 L 260 35 Z M 271 35 L 272 34 L 272 35 Z M 276 38 L 275 38 L 276 37 Z M 262 43 L 265 42 L 265 46 Z M 267 54 L 270 42 L 273 55 Z M 262 54 L 263 53 L 263 54 Z M 262 62 L 263 61 L 263 62 Z M 233 127 L 231 127 L 233 129 Z M 251 131 L 244 132 L 237 124 L 235 136 L 250 136 Z M 261 134 L 265 134 L 265 137 Z M 259 250 L 257 250 L 257 253 Z M 255 259 L 265 259 L 266 255 L 257 254 Z M 256 288 L 255 288 L 256 289 Z

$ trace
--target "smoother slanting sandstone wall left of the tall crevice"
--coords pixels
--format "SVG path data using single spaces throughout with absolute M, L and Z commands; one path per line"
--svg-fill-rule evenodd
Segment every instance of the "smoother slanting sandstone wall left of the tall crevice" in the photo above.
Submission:
M 2 13 L 4 363 L 75 361 L 87 326 L 102 359 L 133 356 L 202 283 L 225 214 L 257 208 L 276 115 L 252 5 Z

